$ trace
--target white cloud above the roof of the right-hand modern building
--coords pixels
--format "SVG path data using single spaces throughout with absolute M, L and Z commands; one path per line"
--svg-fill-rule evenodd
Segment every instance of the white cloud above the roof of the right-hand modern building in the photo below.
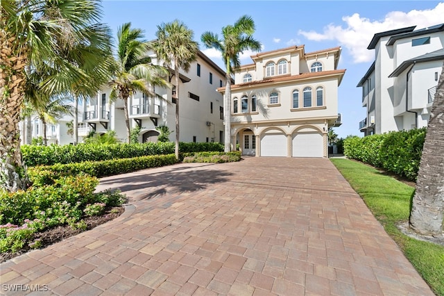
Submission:
M 438 3 L 432 9 L 411 10 L 408 13 L 393 11 L 387 13 L 384 19 L 380 21 L 372 21 L 355 13 L 342 18 L 343 22 L 345 22 L 344 28 L 343 26 L 329 24 L 323 28 L 322 33 L 300 30 L 298 34 L 314 41 L 337 40 L 341 47 L 345 47 L 345 49 L 350 51 L 354 63 L 363 63 L 375 58 L 374 52 L 367 49 L 375 33 L 406 26 L 416 26 L 416 29 L 419 29 L 442 24 L 443 15 L 444 3 Z

